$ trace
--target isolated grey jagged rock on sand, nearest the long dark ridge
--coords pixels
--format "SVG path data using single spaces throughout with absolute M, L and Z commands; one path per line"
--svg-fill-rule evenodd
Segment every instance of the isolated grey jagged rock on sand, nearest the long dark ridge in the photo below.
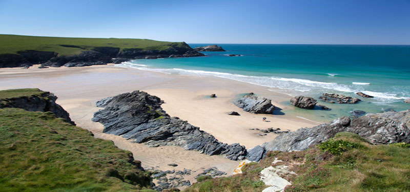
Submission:
M 245 112 L 255 114 L 272 114 L 273 110 L 275 110 L 275 106 L 272 104 L 271 99 L 249 94 L 237 99 L 234 104 L 239 108 L 242 108 Z

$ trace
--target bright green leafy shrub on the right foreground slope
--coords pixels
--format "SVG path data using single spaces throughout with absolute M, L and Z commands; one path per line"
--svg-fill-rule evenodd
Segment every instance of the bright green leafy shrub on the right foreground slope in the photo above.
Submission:
M 351 148 L 364 148 L 364 146 L 350 141 L 329 139 L 320 143 L 318 148 L 333 155 L 341 155 L 343 152 L 350 150 Z

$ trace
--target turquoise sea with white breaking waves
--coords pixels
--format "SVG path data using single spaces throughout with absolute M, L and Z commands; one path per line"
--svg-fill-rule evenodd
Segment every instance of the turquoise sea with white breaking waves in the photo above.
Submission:
M 410 104 L 403 103 L 405 98 L 410 98 L 410 46 L 218 46 L 227 52 L 202 52 L 206 57 L 138 59 L 120 66 L 182 75 L 217 76 L 257 84 L 291 96 L 310 96 L 332 110 L 295 108 L 282 113 L 320 122 L 350 116 L 348 112 L 352 110 L 379 113 L 386 109 L 410 109 Z M 231 57 L 229 54 L 241 56 Z M 361 98 L 356 92 L 374 98 Z M 326 103 L 318 99 L 322 93 L 338 93 L 362 101 L 357 104 Z M 282 104 L 290 105 L 289 101 Z

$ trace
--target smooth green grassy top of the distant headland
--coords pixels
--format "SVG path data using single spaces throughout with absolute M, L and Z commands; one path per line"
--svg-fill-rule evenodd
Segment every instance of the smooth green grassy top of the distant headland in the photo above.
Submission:
M 96 47 L 113 47 L 123 49 L 165 50 L 170 46 L 181 46 L 182 42 L 156 41 L 131 38 L 73 38 L 73 37 L 40 37 L 0 34 L 0 54 L 16 54 L 18 51 L 35 50 L 51 51 L 59 56 L 76 55 L 81 51 L 93 50 Z

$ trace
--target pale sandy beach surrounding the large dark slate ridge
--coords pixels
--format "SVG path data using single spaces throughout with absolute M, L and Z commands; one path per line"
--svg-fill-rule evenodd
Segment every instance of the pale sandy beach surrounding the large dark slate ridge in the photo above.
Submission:
M 203 168 L 212 166 L 228 174 L 238 162 L 221 156 L 208 156 L 196 151 L 185 151 L 181 147 L 162 146 L 147 147 L 144 144 L 132 143 L 120 136 L 102 133 L 104 126 L 92 122 L 93 113 L 99 108 L 95 102 L 99 99 L 135 90 L 146 91 L 165 101 L 162 108 L 171 116 L 188 120 L 201 130 L 214 135 L 225 143 L 240 143 L 247 148 L 274 139 L 277 135 L 268 133 L 259 136 L 259 131 L 251 128 L 266 129 L 280 127 L 282 130 L 297 130 L 300 127 L 311 127 L 319 123 L 289 115 L 255 115 L 241 111 L 232 101 L 239 94 L 254 92 L 270 98 L 275 106 L 285 109 L 281 101 L 290 96 L 268 91 L 264 87 L 217 77 L 194 77 L 137 69 L 118 68 L 113 65 L 91 66 L 81 68 L 38 69 L 0 69 L 0 90 L 18 88 L 39 88 L 58 96 L 57 103 L 70 113 L 75 123 L 92 131 L 97 138 L 109 139 L 124 150 L 131 151 L 136 160 L 141 160 L 145 168 L 172 170 L 167 164 L 176 163 L 175 170 L 183 168 L 194 172 L 189 179 L 201 173 Z M 210 94 L 217 98 L 209 98 Z M 227 115 L 237 111 L 241 116 Z M 263 122 L 267 117 L 270 122 Z

